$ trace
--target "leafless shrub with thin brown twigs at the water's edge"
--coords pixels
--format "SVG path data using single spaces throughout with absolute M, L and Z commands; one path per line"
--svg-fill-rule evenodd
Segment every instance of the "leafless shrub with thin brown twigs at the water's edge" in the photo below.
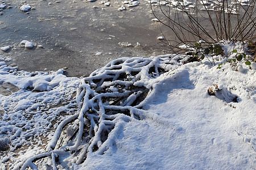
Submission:
M 155 1 L 154 1 L 155 2 Z M 205 46 L 226 42 L 254 42 L 256 31 L 256 1 L 247 0 L 186 0 L 170 1 L 168 4 L 151 4 L 151 10 L 160 23 L 170 28 L 171 40 L 166 36 L 163 43 L 177 53 L 181 44 L 197 48 L 203 40 Z

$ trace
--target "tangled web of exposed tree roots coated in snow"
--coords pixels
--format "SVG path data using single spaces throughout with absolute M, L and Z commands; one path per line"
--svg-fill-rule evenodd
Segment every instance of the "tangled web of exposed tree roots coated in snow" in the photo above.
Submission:
M 182 59 L 177 57 L 119 58 L 82 79 L 76 96 L 79 111 L 59 124 L 47 151 L 28 159 L 22 168 L 35 168 L 33 162 L 48 156 L 55 169 L 55 158 L 63 159 L 63 152 L 69 165 L 80 164 L 86 156 L 111 148 L 123 124 L 133 118 L 162 121 L 143 111 L 143 101 L 154 91 L 148 82 L 175 69 L 177 59 Z

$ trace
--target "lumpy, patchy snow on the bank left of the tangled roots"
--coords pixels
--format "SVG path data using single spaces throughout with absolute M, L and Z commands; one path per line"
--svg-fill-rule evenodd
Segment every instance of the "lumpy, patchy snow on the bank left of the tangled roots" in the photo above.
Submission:
M 63 70 L 28 73 L 17 69 L 0 62 L 0 82 L 20 88 L 8 96 L 0 94 L 0 135 L 4 135 L 0 149 L 8 150 L 0 155 L 0 169 L 19 167 L 31 152 L 36 154 L 46 145 L 57 122 L 76 112 L 73 97 L 80 79 L 67 78 Z M 13 164 L 7 163 L 10 160 Z

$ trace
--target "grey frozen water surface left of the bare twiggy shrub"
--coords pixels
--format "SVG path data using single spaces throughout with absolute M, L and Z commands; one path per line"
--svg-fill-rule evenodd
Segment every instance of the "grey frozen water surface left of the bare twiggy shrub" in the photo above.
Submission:
M 118 10 L 122 1 L 109 1 L 110 6 L 80 0 L 3 2 L 12 8 L 5 8 L 0 16 L 0 46 L 11 45 L 12 49 L 0 55 L 11 58 L 22 70 L 68 67 L 68 76 L 87 76 L 115 58 L 163 53 L 155 49 L 161 25 L 151 21 L 154 16 L 146 1 L 125 11 Z M 29 14 L 19 10 L 23 4 L 31 5 Z M 20 48 L 22 40 L 44 48 Z M 122 42 L 133 46 L 125 48 L 119 45 Z

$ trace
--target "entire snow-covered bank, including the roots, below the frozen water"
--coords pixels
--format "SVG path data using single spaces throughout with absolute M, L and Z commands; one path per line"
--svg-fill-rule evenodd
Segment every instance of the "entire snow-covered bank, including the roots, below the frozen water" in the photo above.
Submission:
M 82 79 L 1 58 L 17 89 L 0 97 L 0 168 L 255 169 L 255 63 L 213 58 L 119 58 Z

